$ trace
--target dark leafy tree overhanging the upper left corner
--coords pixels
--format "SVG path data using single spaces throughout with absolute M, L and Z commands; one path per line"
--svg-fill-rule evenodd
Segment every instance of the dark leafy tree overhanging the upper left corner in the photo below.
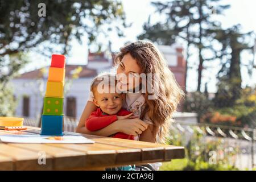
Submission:
M 46 16 L 39 16 L 44 7 L 39 4 L 45 5 Z M 46 56 L 52 52 L 67 54 L 70 40 L 77 39 L 81 43 L 82 36 L 87 35 L 92 43 L 98 34 L 109 31 L 122 36 L 121 27 L 126 27 L 126 23 L 119 1 L 0 0 L 1 92 L 26 63 L 20 55 L 31 50 Z

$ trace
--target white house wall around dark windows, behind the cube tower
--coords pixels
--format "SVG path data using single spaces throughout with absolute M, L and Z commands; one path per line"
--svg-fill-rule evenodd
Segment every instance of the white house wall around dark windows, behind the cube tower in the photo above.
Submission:
M 75 97 L 76 98 L 76 117 L 80 118 L 84 106 L 89 97 L 89 87 L 92 78 L 79 78 L 73 80 L 71 88 L 67 93 L 65 93 L 64 99 L 64 114 L 67 109 L 67 98 Z M 38 80 L 27 80 L 27 79 L 14 79 L 12 81 L 14 85 L 14 94 L 17 98 L 18 105 L 16 106 L 16 116 L 23 117 L 23 96 L 28 96 L 30 98 L 30 108 L 29 108 L 29 118 L 38 119 L 41 115 L 43 98 L 46 90 L 46 80 L 42 81 L 42 84 L 39 84 Z M 39 87 L 42 87 L 43 92 L 40 93 Z

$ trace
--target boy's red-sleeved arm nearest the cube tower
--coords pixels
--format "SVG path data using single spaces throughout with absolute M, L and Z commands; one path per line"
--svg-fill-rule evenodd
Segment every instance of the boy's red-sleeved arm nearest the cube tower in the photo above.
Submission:
M 90 131 L 100 130 L 106 126 L 109 126 L 111 123 L 117 121 L 117 115 L 109 115 L 105 117 L 100 117 L 94 111 L 88 119 L 85 121 L 85 126 Z

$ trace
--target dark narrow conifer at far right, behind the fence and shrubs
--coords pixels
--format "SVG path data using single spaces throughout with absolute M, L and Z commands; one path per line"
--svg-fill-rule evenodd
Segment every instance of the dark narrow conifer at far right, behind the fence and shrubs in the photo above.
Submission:
M 215 38 L 222 44 L 220 59 L 222 68 L 218 72 L 218 91 L 214 98 L 215 106 L 234 106 L 241 97 L 241 52 L 253 46 L 246 40 L 253 32 L 241 33 L 241 26 L 236 25 L 226 30 L 218 30 Z M 227 102 L 228 100 L 228 102 Z

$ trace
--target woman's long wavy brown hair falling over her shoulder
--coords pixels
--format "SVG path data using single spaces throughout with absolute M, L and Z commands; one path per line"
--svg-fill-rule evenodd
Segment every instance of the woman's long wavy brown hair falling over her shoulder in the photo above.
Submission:
M 169 137 L 168 131 L 173 121 L 172 114 L 177 109 L 179 102 L 184 96 L 184 92 L 177 84 L 174 74 L 168 68 L 167 61 L 153 43 L 139 40 L 122 47 L 115 56 L 115 63 L 120 63 L 123 56 L 127 53 L 130 53 L 133 59 L 137 61 L 142 72 L 146 75 L 147 73 L 158 73 L 158 77 L 152 77 L 152 81 L 158 83 L 158 92 L 154 93 L 157 95 L 157 98 L 149 100 L 148 96 L 150 94 L 147 92 L 148 89 L 146 89 L 144 94 L 146 102 L 141 119 L 147 113 L 154 123 L 152 133 L 155 136 L 155 140 L 164 143 Z M 154 86 L 155 84 L 152 84 L 153 90 Z

